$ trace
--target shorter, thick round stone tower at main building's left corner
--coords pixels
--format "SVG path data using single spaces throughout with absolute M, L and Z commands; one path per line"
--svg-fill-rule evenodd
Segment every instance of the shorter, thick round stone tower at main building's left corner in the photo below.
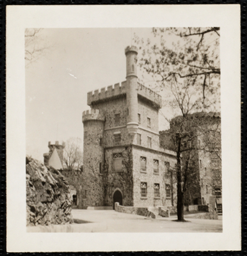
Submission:
M 83 111 L 83 205 L 103 205 L 100 172 L 104 163 L 102 138 L 105 117 L 99 109 Z

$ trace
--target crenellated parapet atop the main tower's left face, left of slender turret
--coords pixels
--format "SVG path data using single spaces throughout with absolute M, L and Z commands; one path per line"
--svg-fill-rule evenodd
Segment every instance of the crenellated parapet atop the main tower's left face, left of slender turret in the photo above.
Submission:
M 107 88 L 101 88 L 99 90 L 95 90 L 94 92 L 88 92 L 88 105 L 90 106 L 92 103 L 104 102 L 105 100 L 115 99 L 124 95 L 126 93 L 126 81 L 120 83 L 110 85 Z

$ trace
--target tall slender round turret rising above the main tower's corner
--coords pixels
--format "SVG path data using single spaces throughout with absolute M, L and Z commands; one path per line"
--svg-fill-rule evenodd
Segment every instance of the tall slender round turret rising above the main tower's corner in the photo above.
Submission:
M 138 83 L 137 83 L 137 54 L 138 49 L 135 46 L 126 47 L 126 83 L 127 83 L 127 131 L 134 136 L 138 131 Z

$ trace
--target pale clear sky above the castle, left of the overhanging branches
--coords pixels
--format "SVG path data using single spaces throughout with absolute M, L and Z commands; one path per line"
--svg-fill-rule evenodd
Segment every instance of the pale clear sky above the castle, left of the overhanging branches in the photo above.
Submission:
M 151 28 L 40 30 L 37 40 L 26 46 L 26 49 L 34 45 L 36 49 L 44 48 L 35 61 L 26 61 L 26 154 L 43 161 L 43 154 L 49 151 L 48 141 L 62 143 L 71 137 L 83 140 L 82 113 L 90 109 L 87 93 L 125 81 L 125 47 L 134 44 L 134 34 L 147 40 L 151 31 Z M 171 45 L 175 37 L 171 35 L 167 44 Z M 138 76 L 143 80 L 141 70 Z M 168 128 L 169 124 L 159 116 L 159 130 Z

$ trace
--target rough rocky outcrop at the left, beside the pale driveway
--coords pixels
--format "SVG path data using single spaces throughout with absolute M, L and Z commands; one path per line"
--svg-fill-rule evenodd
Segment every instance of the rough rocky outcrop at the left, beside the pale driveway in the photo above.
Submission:
M 52 167 L 26 157 L 27 225 L 72 223 L 72 198 L 65 177 Z

